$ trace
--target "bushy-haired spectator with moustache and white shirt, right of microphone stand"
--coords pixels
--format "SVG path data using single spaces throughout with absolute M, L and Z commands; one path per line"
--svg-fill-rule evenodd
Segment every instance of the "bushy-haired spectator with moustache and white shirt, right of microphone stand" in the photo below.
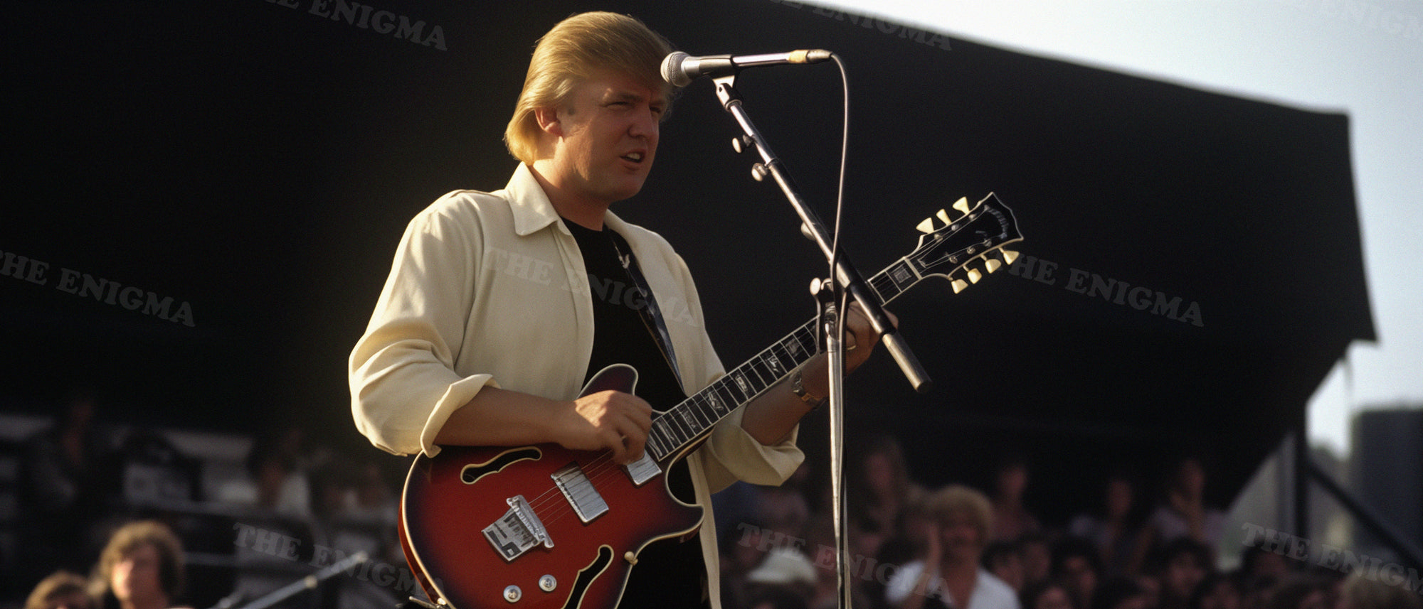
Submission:
M 993 531 L 993 508 L 982 492 L 949 485 L 929 495 L 925 558 L 901 566 L 885 600 L 896 609 L 1017 609 L 1013 589 L 979 566 Z

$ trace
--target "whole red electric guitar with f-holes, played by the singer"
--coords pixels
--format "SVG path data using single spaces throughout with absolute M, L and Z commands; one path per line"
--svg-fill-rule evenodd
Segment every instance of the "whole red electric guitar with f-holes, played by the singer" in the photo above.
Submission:
M 914 252 L 868 279 L 882 303 L 929 276 L 948 277 L 958 293 L 1017 258 L 1003 246 L 1022 235 L 998 196 L 952 208 L 956 219 L 941 209 L 942 226 L 921 222 Z M 417 457 L 400 518 L 410 569 L 431 600 L 454 609 L 615 606 L 642 548 L 702 525 L 703 508 L 677 501 L 662 474 L 717 421 L 814 356 L 815 337 L 813 319 L 656 414 L 643 458 L 629 465 L 608 451 L 558 444 L 443 447 Z M 636 381 L 630 366 L 609 366 L 582 394 L 632 393 Z

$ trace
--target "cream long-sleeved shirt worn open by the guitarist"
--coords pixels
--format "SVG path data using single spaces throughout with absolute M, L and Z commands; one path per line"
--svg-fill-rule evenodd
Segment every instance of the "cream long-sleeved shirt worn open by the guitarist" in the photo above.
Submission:
M 724 373 L 686 263 L 657 233 L 613 213 L 662 307 L 682 386 Z M 366 334 L 350 356 L 351 414 L 371 444 L 435 455 L 450 414 L 487 386 L 555 400 L 582 388 L 593 347 L 593 292 L 573 235 L 519 164 L 502 191 L 455 191 L 416 215 L 396 249 Z M 673 404 L 653 404 L 667 408 Z M 795 434 L 761 445 L 741 410 L 689 455 L 713 606 L 720 606 L 710 494 L 737 480 L 780 485 L 804 460 Z

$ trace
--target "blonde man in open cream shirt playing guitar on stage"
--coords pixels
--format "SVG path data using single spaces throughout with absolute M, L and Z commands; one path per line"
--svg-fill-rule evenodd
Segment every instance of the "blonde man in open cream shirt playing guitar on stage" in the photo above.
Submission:
M 539 40 L 505 132 L 521 161 L 514 176 L 502 191 L 451 192 L 411 221 L 351 353 L 351 408 L 373 444 L 434 455 L 440 445 L 556 443 L 630 462 L 653 407 L 723 374 L 686 265 L 608 211 L 652 168 L 670 51 L 612 13 L 569 17 Z M 877 340 L 850 316 L 847 364 Z M 578 397 L 613 363 L 639 370 L 636 396 Z M 793 377 L 721 420 L 667 472 L 679 498 L 709 507 L 736 480 L 776 485 L 795 470 L 797 421 L 827 393 L 824 357 Z M 710 529 L 645 549 L 620 606 L 719 606 Z

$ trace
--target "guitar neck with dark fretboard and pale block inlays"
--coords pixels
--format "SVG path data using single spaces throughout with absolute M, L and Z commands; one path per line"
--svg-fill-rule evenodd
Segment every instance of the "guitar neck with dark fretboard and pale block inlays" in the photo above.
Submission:
M 879 303 L 894 300 L 919 276 L 906 259 L 899 259 L 867 282 L 872 296 Z M 683 400 L 676 407 L 652 421 L 647 435 L 647 450 L 653 458 L 677 454 L 682 448 L 706 435 L 712 425 L 726 418 L 733 410 L 754 400 L 795 367 L 804 364 L 817 353 L 815 319 L 805 322 L 784 339 L 757 353 L 741 366 L 712 381 L 706 388 Z

